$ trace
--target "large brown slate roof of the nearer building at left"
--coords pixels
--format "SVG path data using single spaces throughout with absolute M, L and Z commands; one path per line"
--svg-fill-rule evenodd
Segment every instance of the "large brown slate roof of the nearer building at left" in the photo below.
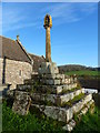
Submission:
M 18 41 L 0 35 L 0 48 L 1 58 L 31 63 L 31 58 Z

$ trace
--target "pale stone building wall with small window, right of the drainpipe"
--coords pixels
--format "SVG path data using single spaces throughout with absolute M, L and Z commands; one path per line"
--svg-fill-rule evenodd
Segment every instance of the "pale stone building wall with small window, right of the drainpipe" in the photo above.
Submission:
M 32 65 L 28 62 L 14 61 L 6 59 L 4 62 L 4 83 L 12 84 L 14 89 L 17 84 L 22 84 L 24 79 L 30 79 L 32 73 Z M 3 65 L 3 64 L 0 64 Z

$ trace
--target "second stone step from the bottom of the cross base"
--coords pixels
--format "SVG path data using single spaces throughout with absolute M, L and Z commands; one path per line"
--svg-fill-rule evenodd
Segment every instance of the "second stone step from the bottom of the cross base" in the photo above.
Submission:
M 51 102 L 56 105 L 61 105 L 61 104 L 72 100 L 74 96 L 77 96 L 81 93 L 84 93 L 84 90 L 80 89 L 80 90 L 76 90 L 76 91 L 69 92 L 67 94 L 60 94 L 60 95 L 41 94 L 41 93 L 32 93 L 30 95 L 31 95 L 31 99 L 37 101 L 37 102 L 48 101 L 48 102 Z

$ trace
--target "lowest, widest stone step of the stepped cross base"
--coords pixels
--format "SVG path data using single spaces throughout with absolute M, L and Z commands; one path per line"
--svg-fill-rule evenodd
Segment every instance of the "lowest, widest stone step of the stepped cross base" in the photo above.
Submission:
M 32 106 L 38 108 L 47 116 L 68 123 L 73 117 L 74 113 L 80 112 L 84 106 L 89 109 L 92 103 L 93 103 L 92 96 L 91 94 L 88 94 L 82 100 L 73 104 L 71 108 L 48 106 L 48 105 L 39 105 L 39 104 L 32 104 Z M 84 113 L 84 111 L 82 112 Z

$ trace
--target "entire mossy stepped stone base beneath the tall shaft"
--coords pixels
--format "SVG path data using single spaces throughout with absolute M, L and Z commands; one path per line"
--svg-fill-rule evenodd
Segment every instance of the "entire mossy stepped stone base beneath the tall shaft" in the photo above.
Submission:
M 24 115 L 29 106 L 37 108 L 47 116 L 64 122 L 62 129 L 71 131 L 76 126 L 74 114 L 86 114 L 92 104 L 92 94 L 84 93 L 77 76 L 60 74 L 56 63 L 43 62 L 39 74 L 17 86 L 12 110 Z

